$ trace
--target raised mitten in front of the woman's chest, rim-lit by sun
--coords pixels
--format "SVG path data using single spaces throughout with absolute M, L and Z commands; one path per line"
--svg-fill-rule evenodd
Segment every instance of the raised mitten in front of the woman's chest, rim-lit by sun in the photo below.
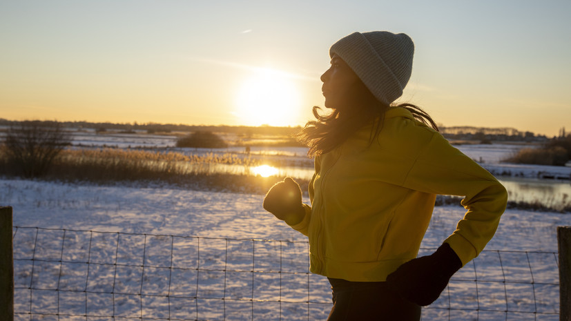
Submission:
M 264 203 L 266 211 L 287 224 L 295 225 L 303 219 L 305 209 L 301 200 L 301 188 L 291 177 L 286 177 L 270 188 Z

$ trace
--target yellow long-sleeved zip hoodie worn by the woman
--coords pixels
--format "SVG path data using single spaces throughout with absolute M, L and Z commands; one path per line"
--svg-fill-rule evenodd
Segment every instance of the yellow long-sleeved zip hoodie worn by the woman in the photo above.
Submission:
M 467 212 L 445 242 L 463 264 L 492 238 L 505 188 L 405 108 L 387 110 L 378 139 L 371 127 L 315 159 L 311 206 L 294 229 L 309 237 L 310 271 L 349 281 L 385 281 L 418 254 L 436 194 L 465 197 Z

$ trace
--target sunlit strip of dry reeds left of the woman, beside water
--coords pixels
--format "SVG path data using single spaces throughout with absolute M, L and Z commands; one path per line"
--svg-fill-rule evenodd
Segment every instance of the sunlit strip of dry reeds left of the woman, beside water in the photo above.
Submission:
M 64 150 L 42 179 L 98 184 L 174 184 L 207 191 L 263 194 L 282 177 L 253 175 L 250 168 L 261 164 L 259 159 L 230 153 L 183 155 L 116 148 Z M 13 164 L 1 157 L 0 175 L 14 176 L 14 173 L 17 172 Z M 308 182 L 302 180 L 300 184 L 307 191 Z

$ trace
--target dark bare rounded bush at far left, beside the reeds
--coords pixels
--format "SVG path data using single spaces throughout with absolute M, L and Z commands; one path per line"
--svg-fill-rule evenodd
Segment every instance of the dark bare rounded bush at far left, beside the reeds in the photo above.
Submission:
M 72 135 L 57 121 L 20 121 L 4 138 L 4 153 L 24 177 L 46 174 L 55 157 L 70 144 Z

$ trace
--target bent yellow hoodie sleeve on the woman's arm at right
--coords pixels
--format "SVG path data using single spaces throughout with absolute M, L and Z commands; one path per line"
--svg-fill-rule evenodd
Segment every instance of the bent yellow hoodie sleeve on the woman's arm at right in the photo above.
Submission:
M 463 265 L 492 239 L 507 203 L 507 192 L 498 180 L 438 133 L 420 152 L 404 186 L 425 193 L 464 197 L 461 204 L 467 212 L 456 231 L 445 240 Z

